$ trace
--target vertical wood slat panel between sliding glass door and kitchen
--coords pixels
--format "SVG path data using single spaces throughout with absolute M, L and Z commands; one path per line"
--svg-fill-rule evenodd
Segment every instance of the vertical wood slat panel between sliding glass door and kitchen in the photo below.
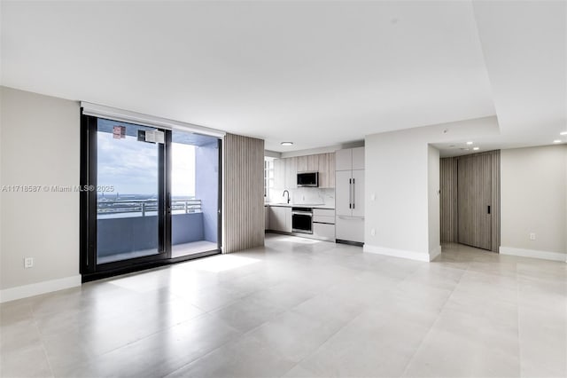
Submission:
M 227 134 L 223 145 L 222 252 L 264 245 L 264 141 Z

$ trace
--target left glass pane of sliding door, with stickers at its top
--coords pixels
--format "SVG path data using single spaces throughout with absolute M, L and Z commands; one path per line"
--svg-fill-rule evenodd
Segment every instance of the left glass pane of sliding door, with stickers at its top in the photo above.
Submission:
M 151 142 L 156 130 L 97 120 L 97 264 L 164 252 L 163 144 Z

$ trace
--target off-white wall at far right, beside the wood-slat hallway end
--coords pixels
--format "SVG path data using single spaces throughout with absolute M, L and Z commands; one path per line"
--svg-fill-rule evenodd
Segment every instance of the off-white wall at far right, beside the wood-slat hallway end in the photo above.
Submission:
M 567 253 L 567 146 L 501 151 L 501 252 L 507 248 Z

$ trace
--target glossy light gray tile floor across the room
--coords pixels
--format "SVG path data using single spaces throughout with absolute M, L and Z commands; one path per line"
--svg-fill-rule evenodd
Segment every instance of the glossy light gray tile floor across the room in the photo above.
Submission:
M 567 264 L 268 234 L 0 305 L 2 377 L 564 377 Z

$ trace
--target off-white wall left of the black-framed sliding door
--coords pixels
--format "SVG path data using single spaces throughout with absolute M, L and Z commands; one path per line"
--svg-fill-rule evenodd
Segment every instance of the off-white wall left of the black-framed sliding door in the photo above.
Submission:
M 2 185 L 78 185 L 79 104 L 5 87 L 0 102 Z M 79 193 L 6 190 L 0 193 L 2 301 L 80 284 Z M 24 269 L 27 256 L 34 268 Z

